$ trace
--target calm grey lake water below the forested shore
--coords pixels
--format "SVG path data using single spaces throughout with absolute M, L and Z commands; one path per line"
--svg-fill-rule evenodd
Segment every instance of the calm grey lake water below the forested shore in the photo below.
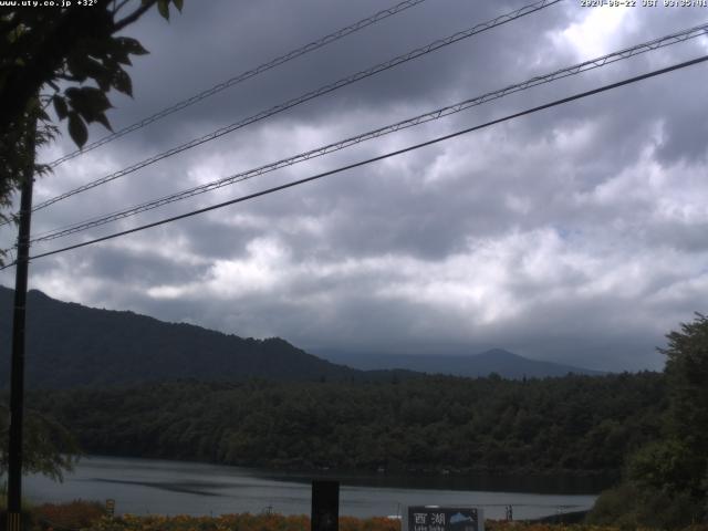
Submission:
M 155 459 L 84 458 L 63 483 L 41 476 L 24 480 L 33 501 L 114 499 L 116 513 L 133 514 L 309 514 L 312 476 Z M 340 514 L 397 514 L 402 506 L 476 506 L 486 518 L 514 519 L 590 509 L 597 486 L 577 481 L 535 482 L 503 478 L 330 475 L 339 479 Z M 559 490 L 561 489 L 561 490 Z M 530 492 L 529 490 L 535 490 Z M 586 490 L 583 493 L 583 490 Z M 554 492 L 564 493 L 554 493 Z M 539 493 L 541 492 L 541 493 Z

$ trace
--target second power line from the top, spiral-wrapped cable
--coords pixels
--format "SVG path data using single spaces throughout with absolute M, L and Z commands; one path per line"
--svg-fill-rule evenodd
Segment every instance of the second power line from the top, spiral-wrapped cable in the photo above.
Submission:
M 261 119 L 264 119 L 269 116 L 272 116 L 274 114 L 281 113 L 283 111 L 287 111 L 288 108 L 294 107 L 295 105 L 300 105 L 301 103 L 308 102 L 310 100 L 314 100 L 315 97 L 322 96 L 324 94 L 327 94 L 330 92 L 336 91 L 337 88 L 341 88 L 343 86 L 350 85 L 352 83 L 355 83 L 357 81 L 361 81 L 363 79 L 369 77 L 372 75 L 378 74 L 381 72 L 384 72 L 386 70 L 393 69 L 394 66 L 397 66 L 399 64 L 403 64 L 405 62 L 412 61 L 414 59 L 420 58 L 423 55 L 426 55 L 430 52 L 434 52 L 436 50 L 439 50 L 440 48 L 450 45 L 455 42 L 461 41 L 462 39 L 468 39 L 472 35 L 476 35 L 478 33 L 481 33 L 483 31 L 490 30 L 492 28 L 496 28 L 498 25 L 502 25 L 506 24 L 507 22 L 511 22 L 512 20 L 519 19 L 521 17 L 525 17 L 527 14 L 531 14 L 535 11 L 539 11 L 541 9 L 548 8 L 550 6 L 553 6 L 555 3 L 561 2 L 562 0 L 540 0 L 537 1 L 534 3 L 524 6 L 520 9 L 517 9 L 510 13 L 506 13 L 506 14 L 501 14 L 490 21 L 487 22 L 482 22 L 480 24 L 475 25 L 473 28 L 470 28 L 468 30 L 465 31 L 459 31 L 457 33 L 454 33 L 445 39 L 439 39 L 437 41 L 434 41 L 425 46 L 418 48 L 416 50 L 413 50 L 408 53 L 405 53 L 403 55 L 398 55 L 389 61 L 386 61 L 384 63 L 379 63 L 375 66 L 371 66 L 369 69 L 366 70 L 362 70 L 355 74 L 352 74 L 350 76 L 343 77 L 339 81 L 335 81 L 334 83 L 330 83 L 326 85 L 323 85 L 319 88 L 315 88 L 314 91 L 308 92 L 301 96 L 298 96 L 295 98 L 289 100 L 285 103 L 281 103 L 278 105 L 274 105 L 272 107 L 270 107 L 267 111 L 261 111 L 254 115 L 251 115 L 247 118 L 243 118 L 239 122 L 236 122 L 231 125 L 227 125 L 225 127 L 221 127 L 212 133 L 209 133 L 208 135 L 201 136 L 199 138 L 195 138 L 192 140 L 189 140 L 180 146 L 177 147 L 173 147 L 171 149 L 168 149 L 167 152 L 163 152 L 160 154 L 154 155 L 149 158 L 146 158 L 139 163 L 136 163 L 132 166 L 128 166 L 127 168 L 121 169 L 118 171 L 115 171 L 113 174 L 110 174 L 105 177 L 102 177 L 100 179 L 93 180 L 91 183 L 87 183 L 83 186 L 80 186 L 79 188 L 74 188 L 71 191 L 67 191 L 65 194 L 62 194 L 60 196 L 53 197 L 51 199 L 48 199 L 43 202 L 38 204 L 37 206 L 34 206 L 33 210 L 40 210 L 42 208 L 46 208 L 50 205 L 53 205 L 54 202 L 61 201 L 63 199 L 66 199 L 67 197 L 74 196 L 76 194 L 80 194 L 82 191 L 88 190 L 91 188 L 95 188 L 96 186 L 103 185 L 105 183 L 108 183 L 111 180 L 115 180 L 119 177 L 124 177 L 125 175 L 132 174 L 134 171 L 137 171 L 138 169 L 142 169 L 146 166 L 149 166 L 154 163 L 157 163 L 158 160 L 162 160 L 164 158 L 167 157 L 171 157 L 173 155 L 177 155 L 178 153 L 185 152 L 187 149 L 191 149 L 192 147 L 199 146 L 206 142 L 209 140 L 214 140 L 216 138 L 219 138 L 228 133 L 232 133 L 237 129 L 240 129 L 242 127 L 246 127 L 247 125 L 253 124 L 256 122 L 259 122 Z

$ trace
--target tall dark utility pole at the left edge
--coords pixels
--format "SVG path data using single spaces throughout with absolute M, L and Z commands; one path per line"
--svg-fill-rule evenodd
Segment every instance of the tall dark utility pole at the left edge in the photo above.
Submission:
M 27 279 L 30 262 L 30 221 L 34 183 L 34 139 L 37 122 L 28 131 L 28 164 L 20 192 L 20 227 L 14 277 L 14 312 L 12 316 L 12 362 L 10 371 L 10 444 L 8 448 L 8 531 L 22 525 L 22 425 L 24 420 L 24 324 Z

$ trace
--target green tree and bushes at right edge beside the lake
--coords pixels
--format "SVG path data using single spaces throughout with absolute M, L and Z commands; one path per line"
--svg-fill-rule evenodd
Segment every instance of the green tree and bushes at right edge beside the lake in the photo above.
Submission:
M 659 437 L 626 458 L 621 485 L 603 492 L 594 523 L 622 529 L 708 523 L 708 316 L 666 335 L 668 408 Z

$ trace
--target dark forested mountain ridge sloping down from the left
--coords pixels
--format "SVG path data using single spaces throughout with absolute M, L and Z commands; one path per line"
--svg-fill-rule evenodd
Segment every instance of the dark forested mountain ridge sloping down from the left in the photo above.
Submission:
M 13 291 L 0 287 L 0 382 L 9 382 Z M 320 360 L 284 340 L 241 339 L 133 312 L 28 293 L 27 378 L 34 388 L 198 378 L 350 379 L 364 373 Z M 399 373 L 400 375 L 402 373 Z M 367 377 L 381 375 L 372 374 Z M 391 377 L 385 375 L 385 377 Z

